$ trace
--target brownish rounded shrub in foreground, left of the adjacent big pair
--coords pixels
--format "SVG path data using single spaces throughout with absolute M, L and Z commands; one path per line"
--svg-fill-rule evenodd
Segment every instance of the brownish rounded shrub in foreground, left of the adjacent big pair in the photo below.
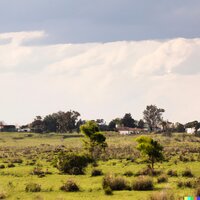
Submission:
M 103 189 L 110 187 L 112 190 L 128 190 L 130 186 L 127 181 L 121 177 L 113 174 L 107 174 L 103 178 Z

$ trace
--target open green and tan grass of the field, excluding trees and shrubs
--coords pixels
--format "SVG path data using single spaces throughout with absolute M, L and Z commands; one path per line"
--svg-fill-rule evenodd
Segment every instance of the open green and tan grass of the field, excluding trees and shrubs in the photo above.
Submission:
M 172 169 L 177 171 L 177 177 L 168 176 L 165 183 L 157 183 L 153 177 L 153 191 L 123 190 L 114 191 L 113 195 L 104 194 L 102 189 L 103 176 L 91 177 L 92 167 L 86 169 L 85 175 L 61 174 L 52 165 L 55 154 L 60 149 L 82 151 L 82 137 L 78 134 L 33 134 L 33 133 L 0 133 L 0 198 L 6 199 L 38 199 L 38 200 L 91 200 L 91 199 L 149 199 L 154 192 L 170 190 L 175 199 L 194 195 L 195 188 L 177 187 L 179 181 L 190 181 L 199 184 L 200 177 L 200 139 L 185 134 L 174 134 L 172 137 L 151 135 L 164 146 L 166 161 L 156 164 L 156 169 L 167 174 Z M 137 136 L 119 136 L 116 133 L 107 135 L 108 149 L 104 161 L 99 161 L 98 169 L 104 174 L 116 173 L 132 182 L 138 171 L 144 169 L 146 162 L 136 150 Z M 40 167 L 48 172 L 44 177 L 32 175 L 34 167 Z M 182 172 L 191 169 L 193 177 L 183 177 Z M 131 171 L 133 176 L 123 174 Z M 60 187 L 67 179 L 73 179 L 80 186 L 80 192 L 63 192 Z M 41 185 L 40 192 L 26 192 L 28 183 Z

